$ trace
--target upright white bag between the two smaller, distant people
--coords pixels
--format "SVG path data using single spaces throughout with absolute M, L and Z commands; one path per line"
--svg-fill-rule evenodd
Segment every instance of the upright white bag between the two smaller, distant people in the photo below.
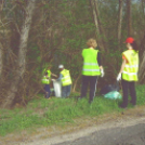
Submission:
M 53 81 L 54 93 L 56 97 L 61 97 L 62 94 L 62 84 L 61 81 Z

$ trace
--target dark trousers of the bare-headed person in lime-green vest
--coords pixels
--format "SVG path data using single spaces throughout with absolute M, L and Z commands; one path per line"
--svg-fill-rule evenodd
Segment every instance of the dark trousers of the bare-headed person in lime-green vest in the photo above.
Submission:
M 81 85 L 81 95 L 80 97 L 87 96 L 88 87 L 90 89 L 90 98 L 91 103 L 95 96 L 97 76 L 82 76 L 82 85 Z

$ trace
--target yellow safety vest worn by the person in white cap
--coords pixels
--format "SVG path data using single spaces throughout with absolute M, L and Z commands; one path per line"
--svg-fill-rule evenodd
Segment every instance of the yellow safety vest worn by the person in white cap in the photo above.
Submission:
M 63 70 L 61 71 L 61 74 L 63 75 L 63 78 L 62 78 L 62 85 L 65 87 L 65 85 L 71 84 L 71 78 L 70 78 L 69 70 L 63 69 Z

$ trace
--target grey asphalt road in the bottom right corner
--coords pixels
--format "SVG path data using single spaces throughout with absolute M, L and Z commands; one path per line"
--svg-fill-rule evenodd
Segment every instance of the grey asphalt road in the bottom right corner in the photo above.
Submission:
M 104 129 L 74 141 L 53 145 L 145 145 L 145 123 Z

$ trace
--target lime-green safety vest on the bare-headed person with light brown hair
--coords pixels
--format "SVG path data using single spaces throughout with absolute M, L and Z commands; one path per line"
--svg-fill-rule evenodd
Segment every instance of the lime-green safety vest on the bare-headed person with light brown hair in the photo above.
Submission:
M 97 50 L 83 49 L 83 68 L 82 75 L 84 76 L 100 76 L 100 66 L 97 64 Z

